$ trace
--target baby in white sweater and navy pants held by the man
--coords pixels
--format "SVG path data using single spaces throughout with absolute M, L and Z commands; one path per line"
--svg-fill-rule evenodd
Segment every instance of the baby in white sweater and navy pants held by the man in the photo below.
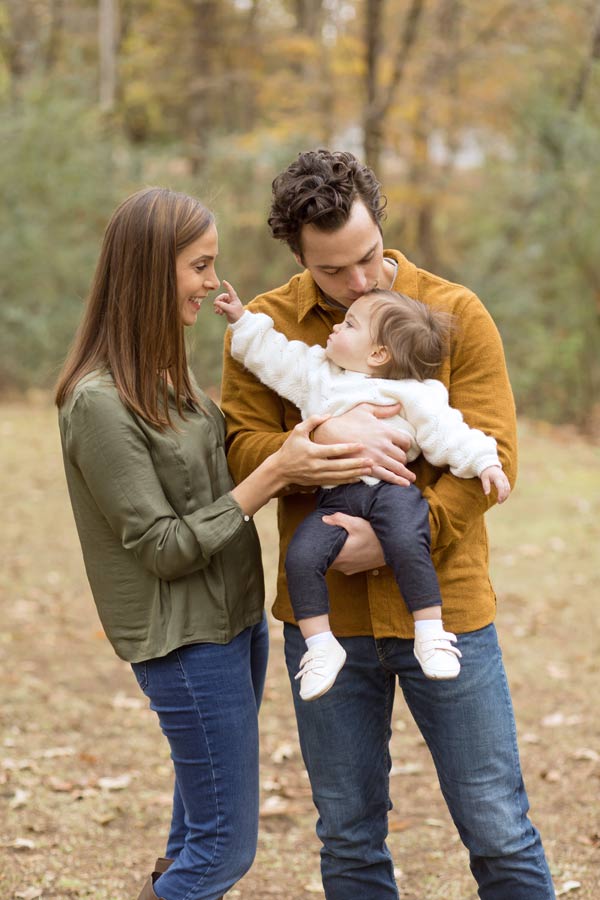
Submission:
M 400 403 L 391 421 L 411 437 L 407 460 L 419 453 L 460 478 L 479 477 L 502 503 L 510 484 L 496 441 L 469 428 L 448 403 L 444 385 L 431 378 L 448 352 L 450 317 L 394 291 L 373 290 L 356 300 L 335 325 L 325 348 L 290 341 L 273 320 L 244 307 L 232 286 L 214 301 L 232 330 L 231 354 L 263 384 L 300 409 L 302 417 L 341 415 L 359 403 Z M 326 525 L 324 515 L 345 512 L 367 519 L 386 564 L 394 572 L 415 620 L 414 654 L 427 678 L 456 678 L 460 650 L 445 631 L 442 598 L 430 554 L 429 506 L 414 485 L 401 487 L 371 476 L 353 484 L 323 485 L 317 509 L 296 530 L 286 557 L 294 616 L 306 641 L 300 661 L 300 696 L 328 691 L 346 660 L 329 626 L 325 575 L 347 532 Z

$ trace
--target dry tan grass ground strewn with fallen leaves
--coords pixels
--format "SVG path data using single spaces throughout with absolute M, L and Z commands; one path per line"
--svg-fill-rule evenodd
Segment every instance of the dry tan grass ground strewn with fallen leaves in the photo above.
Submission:
M 0 897 L 133 900 L 164 849 L 168 752 L 100 630 L 53 411 L 42 401 L 1 406 L 0 440 Z M 273 513 L 258 517 L 271 593 Z M 600 897 L 599 513 L 600 448 L 522 423 L 518 488 L 488 517 L 497 624 L 532 818 L 557 891 L 577 900 Z M 260 845 L 228 900 L 323 896 L 275 622 L 271 635 Z M 393 757 L 389 844 L 403 900 L 474 900 L 466 853 L 401 698 Z

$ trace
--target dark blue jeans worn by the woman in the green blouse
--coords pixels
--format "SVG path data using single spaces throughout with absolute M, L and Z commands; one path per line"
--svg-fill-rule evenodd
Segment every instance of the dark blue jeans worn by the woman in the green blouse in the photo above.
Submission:
M 217 900 L 248 871 L 258 836 L 258 707 L 266 619 L 229 644 L 188 644 L 133 663 L 171 747 L 173 817 L 154 883 L 164 900 Z

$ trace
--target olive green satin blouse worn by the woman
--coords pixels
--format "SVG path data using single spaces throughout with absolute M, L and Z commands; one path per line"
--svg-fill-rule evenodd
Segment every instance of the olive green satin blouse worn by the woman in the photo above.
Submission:
M 197 641 L 228 643 L 260 621 L 260 546 L 231 496 L 219 408 L 170 413 L 157 431 L 112 377 L 82 379 L 59 412 L 65 473 L 106 635 L 130 662 Z

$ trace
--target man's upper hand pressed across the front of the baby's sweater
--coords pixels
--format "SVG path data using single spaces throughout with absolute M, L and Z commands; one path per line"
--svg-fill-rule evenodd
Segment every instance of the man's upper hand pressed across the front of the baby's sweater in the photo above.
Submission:
M 394 406 L 360 403 L 342 416 L 335 416 L 320 425 L 313 432 L 313 440 L 317 444 L 360 443 L 361 454 L 373 460 L 372 475 L 375 478 L 406 487 L 415 480 L 414 473 L 406 468 L 410 437 L 385 421 L 401 410 L 399 403 Z

